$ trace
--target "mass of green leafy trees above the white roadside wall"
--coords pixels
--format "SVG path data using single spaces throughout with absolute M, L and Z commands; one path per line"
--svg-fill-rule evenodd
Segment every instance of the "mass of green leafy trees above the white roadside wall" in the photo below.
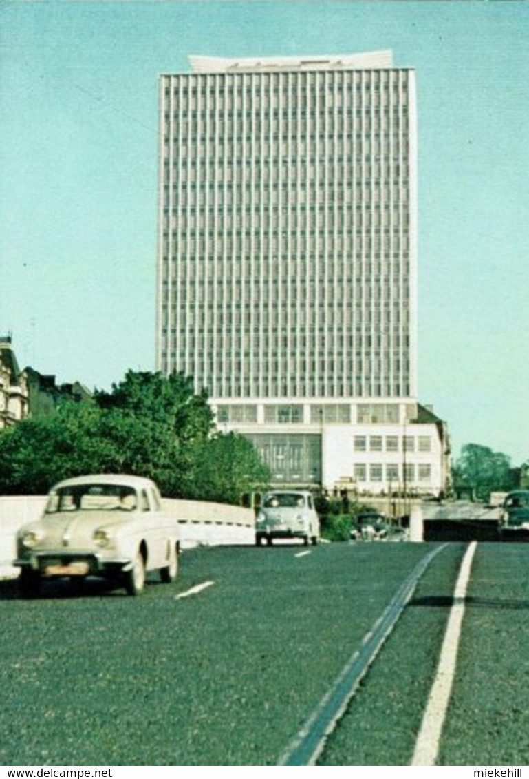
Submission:
M 147 476 L 163 495 L 237 502 L 267 475 L 240 436 L 212 435 L 205 393 L 181 374 L 129 371 L 110 393 L 0 433 L 0 492 L 39 494 L 87 473 Z

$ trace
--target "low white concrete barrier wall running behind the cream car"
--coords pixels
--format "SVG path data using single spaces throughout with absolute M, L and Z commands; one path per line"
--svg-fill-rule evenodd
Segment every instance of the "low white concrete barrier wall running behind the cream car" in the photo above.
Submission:
M 45 495 L 0 495 L 0 578 L 16 576 L 16 531 L 38 520 Z M 176 516 L 182 548 L 196 545 L 247 545 L 254 543 L 254 511 L 225 503 L 163 499 L 163 508 Z

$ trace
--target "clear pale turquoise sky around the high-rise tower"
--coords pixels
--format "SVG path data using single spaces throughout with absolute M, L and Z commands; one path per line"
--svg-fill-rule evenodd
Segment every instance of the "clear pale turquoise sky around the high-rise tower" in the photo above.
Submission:
M 110 389 L 155 370 L 158 79 L 188 55 L 391 49 L 419 113 L 419 400 L 529 460 L 527 2 L 0 3 L 0 335 Z

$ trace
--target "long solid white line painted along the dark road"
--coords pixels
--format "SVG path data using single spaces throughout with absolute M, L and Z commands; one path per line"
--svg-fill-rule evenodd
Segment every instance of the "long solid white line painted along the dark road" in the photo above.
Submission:
M 454 605 L 450 609 L 436 678 L 433 680 L 426 710 L 422 717 L 421 729 L 415 743 L 412 766 L 435 766 L 436 764 L 441 731 L 443 730 L 443 722 L 447 714 L 448 701 L 450 700 L 450 692 L 454 682 L 461 623 L 463 622 L 464 615 L 464 597 L 467 592 L 472 558 L 474 557 L 476 546 L 476 541 L 472 541 L 465 552 L 463 562 L 461 562 L 454 590 Z

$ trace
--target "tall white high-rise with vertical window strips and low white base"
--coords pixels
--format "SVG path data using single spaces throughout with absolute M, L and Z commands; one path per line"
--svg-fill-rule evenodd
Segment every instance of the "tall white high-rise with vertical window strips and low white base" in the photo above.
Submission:
M 157 367 L 205 387 L 275 483 L 440 492 L 415 72 L 390 51 L 191 65 L 160 77 Z

